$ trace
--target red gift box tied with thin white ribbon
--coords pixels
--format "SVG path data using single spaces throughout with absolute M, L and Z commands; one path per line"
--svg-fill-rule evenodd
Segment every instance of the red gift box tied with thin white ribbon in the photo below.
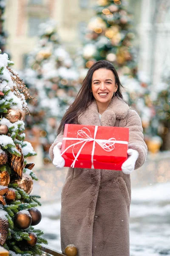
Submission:
M 66 124 L 61 154 L 68 167 L 121 171 L 128 141 L 129 128 Z

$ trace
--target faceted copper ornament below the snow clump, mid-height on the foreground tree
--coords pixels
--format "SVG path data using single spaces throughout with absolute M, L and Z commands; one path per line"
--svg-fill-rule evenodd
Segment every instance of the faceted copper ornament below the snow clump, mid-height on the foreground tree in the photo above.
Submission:
M 15 180 L 14 183 L 17 183 L 20 189 L 23 189 L 27 194 L 30 194 L 33 189 L 33 181 L 29 175 L 23 173 L 23 178 Z

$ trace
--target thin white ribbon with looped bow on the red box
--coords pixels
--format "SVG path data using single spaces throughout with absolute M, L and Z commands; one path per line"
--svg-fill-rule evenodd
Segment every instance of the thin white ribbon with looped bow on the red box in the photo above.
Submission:
M 77 161 L 77 158 L 79 157 L 79 154 L 82 151 L 82 148 L 85 146 L 85 144 L 87 142 L 93 141 L 93 147 L 92 147 L 92 152 L 91 152 L 91 169 L 94 169 L 94 151 L 95 151 L 95 143 L 97 143 L 102 149 L 104 149 L 105 151 L 112 151 L 115 146 L 115 143 L 119 143 L 119 144 L 128 144 L 127 141 L 122 141 L 122 140 L 116 140 L 115 138 L 110 138 L 108 140 L 100 140 L 100 139 L 96 139 L 96 133 L 97 133 L 97 129 L 98 126 L 95 126 L 95 130 L 94 130 L 94 138 L 91 136 L 91 132 L 88 128 L 83 127 L 81 130 L 77 131 L 77 138 L 67 138 L 64 137 L 63 140 L 79 140 L 77 143 L 71 144 L 69 145 L 67 148 L 65 148 L 65 150 L 62 152 L 62 154 L 65 153 L 65 151 L 68 150 L 68 148 L 73 147 L 72 149 L 72 154 L 74 156 L 74 161 L 71 164 L 71 167 L 74 168 L 75 163 Z M 83 143 L 81 148 L 79 149 L 77 155 L 75 156 L 74 154 L 74 146 L 78 145 L 80 143 Z M 61 154 L 61 156 L 62 156 Z

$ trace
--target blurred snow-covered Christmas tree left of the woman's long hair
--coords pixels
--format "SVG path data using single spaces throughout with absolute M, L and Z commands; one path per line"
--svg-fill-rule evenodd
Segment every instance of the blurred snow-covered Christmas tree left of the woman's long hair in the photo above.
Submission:
M 74 62 L 59 42 L 56 24 L 53 20 L 42 23 L 37 47 L 28 54 L 23 79 L 38 99 L 28 103 L 31 116 L 26 118 L 26 127 L 31 133 L 33 125 L 40 129 L 47 154 L 58 123 L 76 96 L 77 78 Z

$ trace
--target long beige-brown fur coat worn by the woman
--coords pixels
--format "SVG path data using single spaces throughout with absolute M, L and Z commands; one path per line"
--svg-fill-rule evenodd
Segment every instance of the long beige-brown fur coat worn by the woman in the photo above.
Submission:
M 81 125 L 104 125 L 129 128 L 128 148 L 139 152 L 135 169 L 147 155 L 142 124 L 136 111 L 114 97 L 99 119 L 96 102 L 82 113 Z M 62 141 L 59 134 L 51 145 Z M 129 256 L 130 175 L 122 171 L 69 168 L 61 195 L 61 247 L 74 244 L 78 256 Z

